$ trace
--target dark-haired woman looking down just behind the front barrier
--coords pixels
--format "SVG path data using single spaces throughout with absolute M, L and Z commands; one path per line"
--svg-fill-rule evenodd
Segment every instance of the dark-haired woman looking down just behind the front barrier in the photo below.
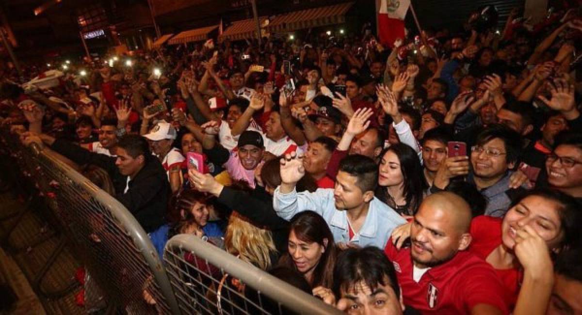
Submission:
M 290 221 L 288 253 L 279 263 L 303 274 L 312 288 L 331 288 L 337 253 L 324 218 L 313 211 L 304 211 Z

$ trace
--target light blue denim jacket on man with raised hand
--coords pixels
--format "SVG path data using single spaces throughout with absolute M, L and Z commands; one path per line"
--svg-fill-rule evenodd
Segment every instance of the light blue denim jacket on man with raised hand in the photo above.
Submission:
M 273 207 L 277 215 L 285 220 L 291 220 L 295 214 L 305 210 L 313 210 L 324 217 L 336 243 L 350 242 L 346 211 L 336 209 L 333 189 L 320 188 L 315 192 L 299 193 L 293 189 L 289 194 L 281 194 L 278 187 L 275 189 Z M 373 245 L 384 249 L 392 230 L 404 223 L 406 220 L 403 217 L 374 197 L 360 233 L 354 235 L 351 242 L 361 247 Z

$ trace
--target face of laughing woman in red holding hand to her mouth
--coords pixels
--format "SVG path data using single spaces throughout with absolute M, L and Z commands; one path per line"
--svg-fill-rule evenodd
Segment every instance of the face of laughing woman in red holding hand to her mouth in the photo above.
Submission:
M 513 249 L 516 232 L 530 226 L 546 242 L 549 249 L 558 248 L 563 240 L 559 205 L 541 196 L 528 196 L 509 209 L 503 219 L 502 241 Z

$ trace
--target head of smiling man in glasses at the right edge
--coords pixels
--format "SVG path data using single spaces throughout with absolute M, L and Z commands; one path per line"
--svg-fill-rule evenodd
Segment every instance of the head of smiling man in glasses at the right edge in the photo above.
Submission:
M 548 184 L 582 202 L 582 134 L 562 133 L 546 159 Z

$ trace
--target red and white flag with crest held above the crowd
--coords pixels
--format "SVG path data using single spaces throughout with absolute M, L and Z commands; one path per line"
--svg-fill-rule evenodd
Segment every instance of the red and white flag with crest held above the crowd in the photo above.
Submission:
M 404 17 L 410 6 L 410 0 L 377 0 L 378 31 L 380 42 L 394 47 L 394 42 L 404 40 Z M 378 3 L 378 2 L 377 2 Z

